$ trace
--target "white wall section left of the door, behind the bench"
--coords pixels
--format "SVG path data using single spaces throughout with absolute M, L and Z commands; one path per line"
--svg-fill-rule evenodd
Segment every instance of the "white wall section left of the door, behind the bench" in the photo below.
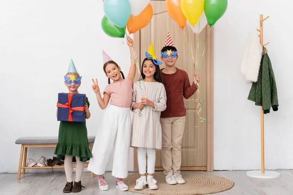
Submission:
M 70 58 L 83 77 L 79 91 L 91 104 L 88 135 L 96 135 L 105 111 L 91 89 L 91 78 L 98 78 L 105 88 L 102 49 L 125 73 L 130 65 L 126 41 L 102 31 L 103 16 L 102 0 L 0 1 L 0 158 L 5 161 L 0 173 L 18 171 L 18 137 L 58 136 L 56 101 L 58 93 L 68 92 L 63 75 Z M 54 149 L 28 153 L 38 161 L 41 156 L 52 158 Z M 129 167 L 132 170 L 133 160 Z

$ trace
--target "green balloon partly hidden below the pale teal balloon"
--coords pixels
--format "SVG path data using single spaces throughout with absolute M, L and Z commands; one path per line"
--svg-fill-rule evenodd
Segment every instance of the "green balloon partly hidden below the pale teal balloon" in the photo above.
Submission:
M 113 24 L 106 16 L 103 17 L 101 25 L 105 34 L 110 37 L 123 38 L 125 36 L 125 29 Z

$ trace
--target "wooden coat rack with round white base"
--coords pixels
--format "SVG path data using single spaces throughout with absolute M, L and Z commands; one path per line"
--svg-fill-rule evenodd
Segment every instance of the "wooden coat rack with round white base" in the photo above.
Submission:
M 259 39 L 260 44 L 262 47 L 268 45 L 270 42 L 264 44 L 264 37 L 263 37 L 263 22 L 267 20 L 270 16 L 267 16 L 263 19 L 263 15 L 259 15 Z M 264 111 L 262 106 L 260 107 L 260 135 L 261 135 L 261 170 L 258 171 L 249 171 L 246 172 L 247 176 L 255 177 L 255 178 L 276 178 L 279 177 L 280 174 L 274 171 L 265 171 L 265 136 L 264 136 L 265 128 L 264 128 Z

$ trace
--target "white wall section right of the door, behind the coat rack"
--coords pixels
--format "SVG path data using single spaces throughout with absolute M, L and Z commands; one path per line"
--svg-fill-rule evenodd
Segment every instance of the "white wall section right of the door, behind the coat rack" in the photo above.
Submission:
M 292 18 L 286 0 L 229 0 L 214 32 L 214 168 L 260 169 L 260 108 L 247 99 L 251 84 L 240 73 L 249 31 L 264 22 L 264 43 L 277 83 L 279 111 L 265 115 L 265 168 L 293 169 Z M 225 113 L 225 114 L 224 114 Z

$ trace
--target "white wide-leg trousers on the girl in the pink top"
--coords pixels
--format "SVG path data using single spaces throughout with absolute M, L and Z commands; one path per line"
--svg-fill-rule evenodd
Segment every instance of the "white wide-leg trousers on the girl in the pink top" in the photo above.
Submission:
M 112 176 L 126 178 L 131 137 L 129 108 L 109 105 L 97 132 L 87 170 L 103 175 L 114 148 Z

